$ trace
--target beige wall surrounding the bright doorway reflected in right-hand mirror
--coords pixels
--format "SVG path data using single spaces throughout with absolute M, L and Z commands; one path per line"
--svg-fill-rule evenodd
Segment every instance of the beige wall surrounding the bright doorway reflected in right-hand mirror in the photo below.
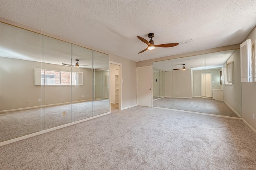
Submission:
M 194 96 L 201 96 L 201 74 L 212 73 L 212 89 L 220 89 L 220 69 L 194 70 L 193 71 L 193 87 Z

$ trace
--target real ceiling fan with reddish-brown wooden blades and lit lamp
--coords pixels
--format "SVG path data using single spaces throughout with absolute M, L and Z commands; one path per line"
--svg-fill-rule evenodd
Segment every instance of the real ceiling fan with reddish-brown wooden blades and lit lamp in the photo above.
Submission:
M 144 38 L 142 38 L 138 35 L 137 35 L 137 37 L 138 37 L 138 39 L 140 39 L 140 41 L 142 41 L 143 43 L 146 43 L 148 45 L 148 47 L 146 49 L 140 51 L 140 53 L 142 53 L 146 50 L 153 50 L 153 49 L 155 49 L 155 47 L 164 47 L 164 48 L 166 48 L 166 47 L 174 47 L 176 45 L 179 45 L 179 43 L 169 43 L 169 44 L 155 45 L 154 41 L 152 40 L 152 38 L 154 37 L 154 33 L 149 33 L 148 34 L 148 37 L 150 38 L 150 41 L 147 41 L 146 39 L 144 39 Z

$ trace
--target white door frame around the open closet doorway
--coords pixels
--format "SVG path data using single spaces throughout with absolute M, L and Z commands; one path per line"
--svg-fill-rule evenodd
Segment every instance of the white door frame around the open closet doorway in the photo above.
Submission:
M 120 69 L 118 69 L 118 80 L 119 80 L 119 90 L 118 90 L 118 109 L 122 110 L 122 63 L 116 63 L 114 61 L 109 61 L 109 71 L 110 71 L 110 64 L 118 65 Z M 110 72 L 109 72 L 110 75 Z M 109 76 L 110 78 L 110 76 Z M 109 80 L 110 82 L 110 80 Z M 110 88 L 109 88 L 110 89 Z M 111 89 L 110 89 L 111 90 Z M 111 98 L 109 95 L 109 105 L 110 105 L 110 112 L 111 112 Z

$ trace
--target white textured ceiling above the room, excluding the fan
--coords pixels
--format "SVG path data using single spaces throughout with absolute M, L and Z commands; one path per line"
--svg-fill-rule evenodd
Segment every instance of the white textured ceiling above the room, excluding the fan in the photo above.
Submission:
M 256 25 L 255 0 L 1 0 L 0 16 L 133 61 L 242 43 Z M 155 44 L 190 43 L 171 48 Z

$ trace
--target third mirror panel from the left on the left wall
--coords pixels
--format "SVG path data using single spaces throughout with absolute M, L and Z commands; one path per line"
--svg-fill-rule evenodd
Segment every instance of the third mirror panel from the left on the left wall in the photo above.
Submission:
M 78 61 L 76 61 L 78 60 Z M 72 64 L 78 62 L 79 68 L 72 67 L 72 110 L 74 121 L 92 117 L 92 50 L 72 44 Z M 69 66 L 70 67 L 70 66 Z

